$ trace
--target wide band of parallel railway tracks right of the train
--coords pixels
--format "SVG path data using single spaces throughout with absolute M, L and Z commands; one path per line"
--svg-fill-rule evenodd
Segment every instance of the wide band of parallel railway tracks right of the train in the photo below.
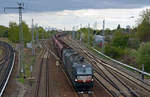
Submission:
M 122 72 L 103 62 L 97 56 L 93 55 L 93 53 L 91 53 L 89 50 L 81 47 L 79 43 L 73 41 L 72 39 L 64 38 L 63 41 L 70 45 L 77 52 L 83 54 L 93 64 L 96 71 L 94 74 L 95 77 L 97 80 L 101 80 L 100 83 L 104 85 L 106 90 L 108 90 L 111 95 L 122 95 L 124 97 L 139 97 L 139 95 L 142 97 L 147 97 L 149 95 L 150 88 L 148 84 L 145 84 L 141 80 L 136 79 L 134 76 L 128 75 L 125 72 Z M 136 88 L 131 88 L 132 84 L 128 85 L 123 81 L 123 79 L 135 85 Z M 109 89 L 107 87 L 109 87 Z M 140 91 L 136 91 L 136 89 Z

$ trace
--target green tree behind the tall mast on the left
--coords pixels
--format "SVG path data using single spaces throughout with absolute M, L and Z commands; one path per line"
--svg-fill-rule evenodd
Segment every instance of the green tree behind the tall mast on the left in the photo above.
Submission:
M 23 37 L 24 42 L 31 41 L 31 32 L 29 31 L 28 25 L 23 22 L 22 23 L 23 28 Z M 14 22 L 9 23 L 9 30 L 8 30 L 8 39 L 12 42 L 18 43 L 19 42 L 19 25 L 17 25 Z

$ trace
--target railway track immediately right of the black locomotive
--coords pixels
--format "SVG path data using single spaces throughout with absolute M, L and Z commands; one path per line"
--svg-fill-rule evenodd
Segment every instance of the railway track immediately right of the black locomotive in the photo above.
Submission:
M 72 45 L 72 41 L 71 40 L 69 40 L 70 41 L 70 44 L 69 45 Z M 65 43 L 69 43 L 69 41 L 66 41 L 65 40 Z M 76 47 L 79 47 L 79 48 L 76 48 Z M 97 62 L 95 61 L 95 60 L 93 60 L 93 57 L 91 58 L 87 53 L 86 53 L 86 50 L 83 50 L 82 48 L 80 48 L 80 46 L 79 45 L 76 45 L 76 47 L 74 46 L 73 47 L 73 45 L 72 45 L 72 48 L 73 49 L 75 49 L 77 52 L 79 52 L 80 54 L 82 53 L 83 55 L 84 55 L 84 57 L 85 57 L 85 55 L 86 55 L 86 58 L 89 60 L 89 62 L 91 63 L 91 64 L 93 64 L 93 66 L 95 67 L 95 64 L 97 64 Z M 97 67 L 96 67 L 97 68 Z M 95 68 L 95 69 L 96 69 Z M 103 70 L 104 69 L 104 70 Z M 100 72 L 100 73 L 99 73 Z M 107 91 L 109 91 L 109 93 L 112 95 L 112 96 L 120 96 L 120 95 L 122 95 L 123 97 L 125 96 L 123 93 L 120 93 L 120 89 L 118 88 L 118 86 L 112 81 L 112 79 L 113 79 L 113 77 L 111 76 L 111 77 L 109 77 L 109 76 L 107 76 L 107 74 L 109 74 L 110 75 L 110 73 L 109 72 L 107 72 L 106 70 L 105 70 L 105 68 L 103 68 L 103 66 L 101 66 L 101 68 L 100 68 L 100 70 L 97 70 L 97 72 L 95 72 L 94 73 L 94 76 L 95 76 L 95 78 L 98 80 L 98 82 L 101 82 L 101 84 L 102 85 L 104 85 L 105 86 L 105 88 L 106 88 L 106 90 Z M 110 79 L 110 78 L 112 78 L 112 79 Z M 100 80 L 100 81 L 99 81 Z M 116 81 L 116 80 L 115 80 Z M 118 82 L 119 83 L 119 82 Z M 120 83 L 119 83 L 119 85 L 121 85 Z M 108 87 L 109 87 L 109 89 L 108 89 Z M 126 97 L 126 96 L 125 96 Z

